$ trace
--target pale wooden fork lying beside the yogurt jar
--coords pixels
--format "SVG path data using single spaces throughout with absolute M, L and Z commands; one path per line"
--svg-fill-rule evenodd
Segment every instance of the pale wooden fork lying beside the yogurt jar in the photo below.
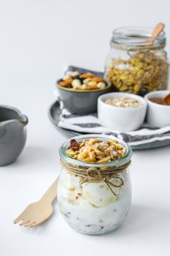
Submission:
M 31 203 L 26 207 L 23 213 L 15 219 L 14 223 L 20 222 L 20 226 L 35 227 L 49 219 L 51 214 L 53 214 L 52 203 L 57 195 L 57 184 L 58 178 L 39 201 Z

